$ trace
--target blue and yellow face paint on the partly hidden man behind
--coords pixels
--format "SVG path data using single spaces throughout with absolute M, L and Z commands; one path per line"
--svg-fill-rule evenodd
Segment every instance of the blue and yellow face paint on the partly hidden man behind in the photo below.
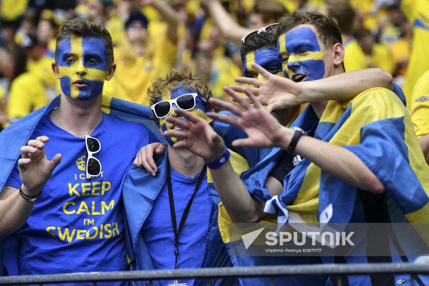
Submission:
M 273 48 L 262 48 L 254 52 L 249 52 L 243 60 L 245 77 L 252 77 L 266 81 L 266 77 L 257 72 L 251 63 L 257 63 L 270 73 L 277 76 L 284 76 L 281 61 L 278 60 L 277 50 Z M 287 76 L 287 75 L 286 75 Z

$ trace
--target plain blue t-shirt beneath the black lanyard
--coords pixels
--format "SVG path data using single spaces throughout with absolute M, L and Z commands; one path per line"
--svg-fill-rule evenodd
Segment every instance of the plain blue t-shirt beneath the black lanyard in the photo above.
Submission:
M 199 173 L 190 178 L 170 167 L 171 185 L 179 226 L 183 211 L 193 194 Z M 205 256 L 205 244 L 211 214 L 211 199 L 207 189 L 207 174 L 202 179 L 192 201 L 189 213 L 179 232 L 179 269 L 201 268 Z M 167 182 L 154 201 L 151 212 L 142 225 L 141 233 L 151 255 L 155 269 L 174 269 L 174 231 L 171 222 Z M 160 285 L 168 285 L 173 280 L 161 280 Z M 194 279 L 179 280 L 193 285 Z

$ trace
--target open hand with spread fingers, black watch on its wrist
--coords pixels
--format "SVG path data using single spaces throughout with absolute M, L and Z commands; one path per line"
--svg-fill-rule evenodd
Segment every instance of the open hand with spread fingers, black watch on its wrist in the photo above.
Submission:
M 250 102 L 245 98 L 236 94 L 230 87 L 225 86 L 224 91 L 229 94 L 233 99 L 238 102 L 244 110 L 226 101 L 222 101 L 211 97 L 209 99 L 211 104 L 218 105 L 224 110 L 228 110 L 238 116 L 239 118 L 219 113 L 207 113 L 207 116 L 218 119 L 220 121 L 236 125 L 246 132 L 248 138 L 236 139 L 233 141 L 233 146 L 249 146 L 258 148 L 269 148 L 273 146 L 281 146 L 282 141 L 286 140 L 285 134 L 289 128 L 282 126 L 277 119 L 274 118 L 263 105 L 252 94 L 248 88 L 244 88 Z

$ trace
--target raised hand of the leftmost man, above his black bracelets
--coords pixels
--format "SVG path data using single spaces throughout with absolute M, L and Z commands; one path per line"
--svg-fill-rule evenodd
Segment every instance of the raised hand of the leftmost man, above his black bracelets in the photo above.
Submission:
M 60 164 L 61 154 L 57 154 L 48 161 L 45 153 L 46 136 L 37 137 L 28 141 L 27 146 L 21 147 L 21 159 L 18 160 L 18 170 L 26 195 L 37 195 L 52 176 L 55 167 Z

